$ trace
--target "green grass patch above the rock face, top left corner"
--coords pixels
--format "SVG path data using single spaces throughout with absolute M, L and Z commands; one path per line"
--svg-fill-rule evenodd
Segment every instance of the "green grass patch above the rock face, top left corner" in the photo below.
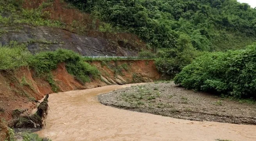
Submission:
M 51 2 L 43 2 L 37 9 L 23 9 L 23 0 L 0 0 L 0 13 L 8 16 L 0 16 L 0 23 L 6 26 L 28 24 L 34 26 L 47 26 L 63 28 L 59 21 L 48 20 L 50 13 L 43 11 L 51 5 Z

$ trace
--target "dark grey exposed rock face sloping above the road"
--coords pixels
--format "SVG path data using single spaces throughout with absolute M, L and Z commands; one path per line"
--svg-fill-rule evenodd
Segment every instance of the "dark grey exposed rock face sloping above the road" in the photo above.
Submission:
M 0 26 L 1 27 L 1 26 Z M 57 50 L 64 48 L 73 50 L 83 56 L 134 56 L 139 50 L 132 50 L 131 45 L 119 45 L 106 39 L 82 36 L 64 29 L 49 27 L 1 27 L 5 32 L 0 34 L 0 43 L 8 44 L 10 41 L 28 43 L 32 53 Z

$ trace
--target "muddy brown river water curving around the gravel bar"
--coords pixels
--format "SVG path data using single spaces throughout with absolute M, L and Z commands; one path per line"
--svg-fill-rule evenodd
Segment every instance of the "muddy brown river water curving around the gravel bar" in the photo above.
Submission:
M 46 127 L 36 133 L 52 141 L 256 141 L 254 125 L 181 120 L 98 102 L 98 94 L 129 86 L 51 94 Z

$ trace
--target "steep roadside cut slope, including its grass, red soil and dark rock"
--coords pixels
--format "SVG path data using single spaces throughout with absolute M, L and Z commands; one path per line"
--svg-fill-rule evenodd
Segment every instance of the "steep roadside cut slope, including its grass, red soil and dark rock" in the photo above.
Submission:
M 18 41 L 28 43 L 33 53 L 66 48 L 88 56 L 135 56 L 146 48 L 137 36 L 107 29 L 104 22 L 62 0 L 0 0 L 0 4 L 2 45 Z

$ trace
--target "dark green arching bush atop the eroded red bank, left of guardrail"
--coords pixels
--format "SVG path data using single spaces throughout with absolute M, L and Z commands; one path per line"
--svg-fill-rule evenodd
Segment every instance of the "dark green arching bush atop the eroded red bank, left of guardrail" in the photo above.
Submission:
M 84 62 L 82 57 L 72 50 L 58 49 L 54 52 L 41 52 L 30 58 L 30 66 L 34 68 L 38 75 L 50 73 L 61 62 L 66 62 L 68 73 L 74 75 L 82 83 L 90 82 L 89 77 L 92 78 L 99 75 L 97 68 Z

